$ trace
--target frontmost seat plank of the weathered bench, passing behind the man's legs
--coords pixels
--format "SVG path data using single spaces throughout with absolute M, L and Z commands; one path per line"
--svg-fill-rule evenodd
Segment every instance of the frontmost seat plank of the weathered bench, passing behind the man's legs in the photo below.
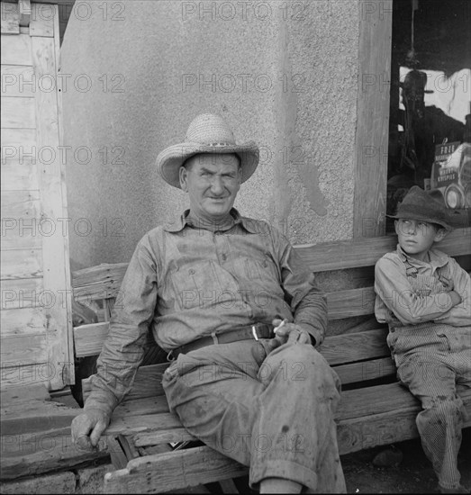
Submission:
M 466 407 L 470 407 L 471 391 L 464 392 L 462 397 Z M 367 419 L 340 419 L 338 424 L 340 455 L 417 437 L 414 419 L 419 409 L 420 406 L 416 401 L 416 405 L 371 414 L 367 416 Z M 466 423 L 466 426 L 469 425 L 471 425 L 471 419 L 468 419 Z M 179 434 L 182 434 L 181 430 Z M 140 436 L 140 439 L 142 437 Z M 160 439 L 168 441 L 168 437 L 162 436 Z M 147 455 L 133 459 L 126 469 L 105 474 L 104 490 L 107 493 L 129 493 L 131 490 L 159 493 L 233 478 L 247 472 L 247 468 L 225 455 L 207 446 L 201 446 L 169 454 Z

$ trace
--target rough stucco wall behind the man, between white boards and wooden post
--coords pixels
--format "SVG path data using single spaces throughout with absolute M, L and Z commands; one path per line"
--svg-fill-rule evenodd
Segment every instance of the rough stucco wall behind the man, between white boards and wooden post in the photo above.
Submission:
M 294 243 L 351 237 L 358 2 L 77 6 L 61 49 L 74 267 L 128 261 L 186 207 L 154 162 L 200 112 L 261 147 L 243 214 Z

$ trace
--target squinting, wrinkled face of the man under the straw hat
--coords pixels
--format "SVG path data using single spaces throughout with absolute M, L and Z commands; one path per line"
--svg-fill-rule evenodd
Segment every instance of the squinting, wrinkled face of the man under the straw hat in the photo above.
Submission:
M 190 198 L 190 211 L 203 220 L 222 220 L 240 188 L 240 160 L 235 154 L 204 153 L 180 167 L 180 185 Z

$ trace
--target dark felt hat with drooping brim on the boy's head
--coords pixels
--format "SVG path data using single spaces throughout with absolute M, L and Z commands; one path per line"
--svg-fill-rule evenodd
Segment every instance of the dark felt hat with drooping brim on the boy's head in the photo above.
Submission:
M 430 193 L 413 185 L 397 206 L 395 215 L 387 215 L 392 219 L 421 220 L 437 223 L 447 230 L 453 230 L 450 217 L 441 194 L 435 191 Z

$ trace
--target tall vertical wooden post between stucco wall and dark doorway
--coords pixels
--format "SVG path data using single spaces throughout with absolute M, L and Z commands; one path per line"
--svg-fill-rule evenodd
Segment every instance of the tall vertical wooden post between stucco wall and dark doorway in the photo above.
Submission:
M 393 0 L 360 8 L 353 237 L 385 234 Z M 384 9 L 384 10 L 381 10 Z

